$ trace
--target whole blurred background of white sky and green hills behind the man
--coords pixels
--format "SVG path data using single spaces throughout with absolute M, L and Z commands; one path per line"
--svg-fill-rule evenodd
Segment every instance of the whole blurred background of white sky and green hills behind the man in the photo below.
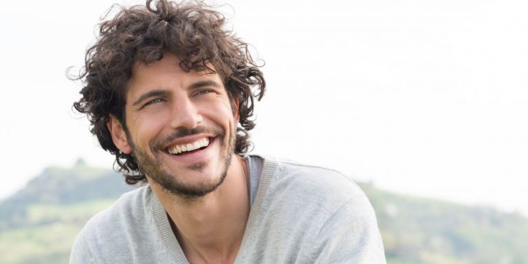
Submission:
M 0 263 L 65 262 L 130 189 L 65 77 L 113 3 L 3 3 Z M 254 154 L 360 182 L 389 263 L 528 263 L 528 2 L 208 3 L 265 61 Z

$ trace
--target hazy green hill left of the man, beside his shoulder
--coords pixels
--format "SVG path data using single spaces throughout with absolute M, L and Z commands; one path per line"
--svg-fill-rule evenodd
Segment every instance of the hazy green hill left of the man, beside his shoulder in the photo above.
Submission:
M 0 263 L 68 263 L 87 219 L 132 189 L 118 173 L 82 160 L 71 169 L 45 169 L 0 202 Z

